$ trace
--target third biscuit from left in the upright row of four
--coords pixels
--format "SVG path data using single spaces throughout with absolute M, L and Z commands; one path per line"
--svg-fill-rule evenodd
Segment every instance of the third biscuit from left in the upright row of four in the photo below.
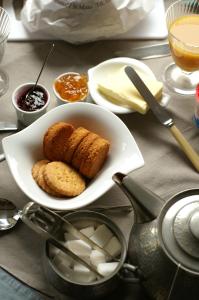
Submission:
M 90 132 L 79 144 L 72 158 L 72 166 L 79 170 L 83 161 L 86 160 L 88 156 L 88 149 L 94 143 L 94 141 L 99 138 L 99 135 Z

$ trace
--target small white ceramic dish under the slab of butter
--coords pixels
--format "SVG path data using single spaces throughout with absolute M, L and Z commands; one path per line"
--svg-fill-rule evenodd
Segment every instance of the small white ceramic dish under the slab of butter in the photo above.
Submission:
M 124 67 L 126 65 L 132 66 L 135 68 L 135 70 L 145 73 L 146 75 L 150 76 L 151 79 L 156 79 L 154 73 L 147 65 L 139 60 L 129 57 L 117 57 L 108 59 L 88 70 L 88 86 L 91 98 L 95 103 L 107 108 L 108 110 L 116 114 L 132 113 L 134 112 L 134 110 L 132 108 L 123 107 L 109 101 L 105 95 L 99 92 L 97 88 L 97 82 L 100 80 L 100 78 L 105 78 L 106 74 L 110 74 L 116 71 L 118 68 Z M 161 104 L 165 106 L 168 101 L 169 96 L 163 94 Z

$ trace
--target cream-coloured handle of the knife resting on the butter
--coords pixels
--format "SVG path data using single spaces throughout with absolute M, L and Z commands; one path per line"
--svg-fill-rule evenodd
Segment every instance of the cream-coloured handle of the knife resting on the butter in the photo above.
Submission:
M 178 144 L 181 146 L 181 149 L 184 151 L 188 159 L 192 162 L 196 170 L 199 172 L 199 156 L 196 151 L 192 148 L 190 143 L 185 139 L 184 135 L 175 125 L 169 127 L 169 129 Z

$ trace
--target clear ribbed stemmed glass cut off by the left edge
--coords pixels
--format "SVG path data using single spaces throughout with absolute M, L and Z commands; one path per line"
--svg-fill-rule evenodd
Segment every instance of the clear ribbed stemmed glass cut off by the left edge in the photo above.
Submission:
M 3 59 L 5 47 L 10 33 L 10 19 L 8 13 L 0 7 L 0 62 Z M 0 96 L 8 89 L 9 79 L 7 73 L 0 68 Z

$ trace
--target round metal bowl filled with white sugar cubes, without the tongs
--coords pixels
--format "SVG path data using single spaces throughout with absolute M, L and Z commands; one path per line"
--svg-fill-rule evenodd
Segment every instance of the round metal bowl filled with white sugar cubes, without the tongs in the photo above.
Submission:
M 44 270 L 49 282 L 60 292 L 75 299 L 104 297 L 118 287 L 124 269 L 127 246 L 119 227 L 104 214 L 81 210 L 64 217 L 103 251 L 77 239 L 62 228 L 64 246 L 93 266 L 96 272 L 46 242 Z

